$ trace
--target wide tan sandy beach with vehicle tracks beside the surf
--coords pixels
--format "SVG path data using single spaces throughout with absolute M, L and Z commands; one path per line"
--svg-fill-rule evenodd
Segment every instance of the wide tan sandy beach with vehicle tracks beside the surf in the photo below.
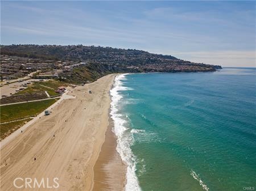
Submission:
M 115 151 L 115 137 L 109 126 L 109 90 L 114 77 L 107 75 L 71 88 L 68 94 L 76 96 L 75 99 L 64 99 L 49 116 L 40 117 L 1 147 L 1 190 L 122 190 L 123 182 L 114 185 L 124 180 L 124 167 Z M 115 166 L 108 171 L 114 164 L 120 169 Z M 106 173 L 114 170 L 119 173 L 117 179 L 116 175 Z M 18 177 L 21 179 L 16 183 L 24 185 L 23 188 L 15 188 L 13 184 Z M 99 177 L 105 184 L 98 186 Z M 25 188 L 26 178 L 33 180 L 32 186 L 34 179 L 48 178 L 49 186 Z M 58 179 L 59 188 L 53 188 L 54 178 Z

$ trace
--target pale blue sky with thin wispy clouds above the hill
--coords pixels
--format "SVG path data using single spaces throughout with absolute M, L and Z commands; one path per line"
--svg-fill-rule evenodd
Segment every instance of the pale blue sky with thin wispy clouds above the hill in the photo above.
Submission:
M 256 67 L 254 1 L 1 1 L 1 44 L 100 45 Z

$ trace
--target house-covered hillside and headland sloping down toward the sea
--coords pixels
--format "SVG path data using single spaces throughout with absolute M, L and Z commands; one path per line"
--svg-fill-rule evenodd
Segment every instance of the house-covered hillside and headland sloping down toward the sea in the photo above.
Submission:
M 221 68 L 143 50 L 83 45 L 3 45 L 1 63 L 2 79 L 15 78 L 14 74 L 20 74 L 20 71 L 40 69 L 43 74 L 35 75 L 35 78 L 57 73 L 57 78 L 76 83 L 118 72 L 205 72 Z

